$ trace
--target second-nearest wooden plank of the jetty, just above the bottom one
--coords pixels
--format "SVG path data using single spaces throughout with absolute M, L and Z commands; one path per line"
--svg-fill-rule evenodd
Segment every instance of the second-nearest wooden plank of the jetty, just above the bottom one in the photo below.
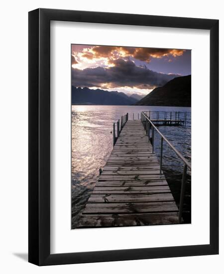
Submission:
M 83 214 L 120 214 L 178 211 L 175 202 L 87 204 Z

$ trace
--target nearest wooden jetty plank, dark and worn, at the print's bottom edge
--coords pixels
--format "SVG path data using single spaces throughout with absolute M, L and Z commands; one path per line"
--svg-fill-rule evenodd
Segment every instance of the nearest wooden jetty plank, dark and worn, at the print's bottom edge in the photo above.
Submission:
M 178 213 L 82 215 L 77 228 L 178 224 Z

